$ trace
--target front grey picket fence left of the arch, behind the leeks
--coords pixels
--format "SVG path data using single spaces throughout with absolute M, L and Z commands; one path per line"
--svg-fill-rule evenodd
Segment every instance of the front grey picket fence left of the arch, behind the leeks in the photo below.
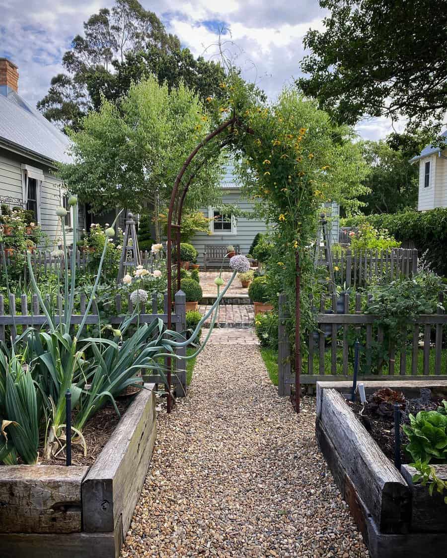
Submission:
M 37 295 L 31 295 L 31 301 L 28 302 L 28 296 L 25 293 L 20 295 L 20 314 L 16 312 L 16 296 L 9 294 L 9 314 L 4 314 L 4 297 L 0 295 L 0 340 L 6 341 L 6 338 L 10 338 L 14 342 L 18 335 L 18 329 L 25 330 L 27 328 L 46 328 L 47 319 L 41 312 L 39 301 L 37 300 Z M 49 296 L 46 296 L 45 304 L 47 309 L 54 314 L 55 323 L 59 323 L 64 315 L 64 300 L 63 297 L 58 295 L 56 300 L 50 300 Z M 55 302 L 55 304 L 54 304 Z M 108 316 L 107 320 L 104 318 L 99 320 L 99 311 L 96 301 L 93 301 L 91 306 L 91 311 L 87 315 L 85 324 L 102 324 L 105 323 L 118 325 L 121 324 L 125 315 L 122 313 L 123 309 L 123 298 L 121 295 L 115 296 L 115 310 L 116 315 Z M 80 294 L 79 299 L 75 300 L 75 307 L 79 307 L 79 314 L 72 314 L 70 316 L 70 325 L 80 324 L 85 311 L 87 310 L 87 296 L 85 294 Z M 135 317 L 132 319 L 132 323 L 151 323 L 152 321 L 158 319 L 163 321 L 163 324 L 168 323 L 168 294 L 164 294 L 164 309 L 163 313 L 158 312 L 158 297 L 156 293 L 153 294 L 150 300 L 143 303 L 140 301 L 139 308 L 137 309 Z M 130 295 L 127 299 L 127 314 L 132 314 L 134 312 L 134 305 L 130 299 Z M 53 316 L 52 316 L 53 317 Z M 171 315 L 171 321 L 175 331 L 186 330 L 186 296 L 183 291 L 178 291 L 174 296 L 174 312 Z M 179 356 L 186 355 L 186 348 L 176 348 L 175 353 Z M 174 383 L 174 395 L 176 397 L 182 397 L 186 394 L 186 362 L 185 360 L 173 359 L 175 363 L 175 374 L 173 376 Z M 144 376 L 145 381 L 154 383 L 163 383 L 160 376 L 154 374 L 151 376 Z

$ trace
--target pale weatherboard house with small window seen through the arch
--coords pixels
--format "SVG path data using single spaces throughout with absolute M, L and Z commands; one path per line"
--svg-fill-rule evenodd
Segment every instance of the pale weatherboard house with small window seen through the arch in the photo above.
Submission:
M 237 206 L 244 212 L 254 212 L 254 202 L 245 198 L 241 193 L 241 185 L 236 176 L 228 167 L 222 179 L 221 187 L 224 190 L 222 201 L 230 206 Z M 225 214 L 221 208 L 212 206 L 202 208 L 205 217 L 210 221 L 209 234 L 205 232 L 196 233 L 191 241 L 198 252 L 197 263 L 203 266 L 203 254 L 207 245 L 235 246 L 239 245 L 242 254 L 249 252 L 251 243 L 257 233 L 267 231 L 267 223 L 259 219 L 248 219 L 246 217 L 235 217 L 231 213 Z M 339 236 L 339 206 L 335 203 L 326 204 L 325 212 L 330 216 L 330 232 L 332 242 L 338 242 Z

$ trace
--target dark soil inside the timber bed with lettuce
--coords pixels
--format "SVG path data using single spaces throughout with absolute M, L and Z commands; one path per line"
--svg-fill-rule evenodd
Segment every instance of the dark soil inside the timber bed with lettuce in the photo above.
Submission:
M 407 400 L 406 410 L 401 413 L 401 424 L 410 424 L 408 414 L 417 415 L 419 411 L 435 411 L 441 404 L 439 398 L 430 398 L 429 400 L 417 398 Z M 348 401 L 349 407 L 354 414 L 362 422 L 363 426 L 368 430 L 375 442 L 388 459 L 394 463 L 394 418 L 378 415 L 368 408 L 368 404 L 363 410 L 362 403 L 352 403 Z M 362 412 L 363 410 L 363 412 Z M 362 412 L 362 415 L 360 415 Z M 401 429 L 401 461 L 402 464 L 412 463 L 411 455 L 405 450 L 408 444 L 408 437 Z

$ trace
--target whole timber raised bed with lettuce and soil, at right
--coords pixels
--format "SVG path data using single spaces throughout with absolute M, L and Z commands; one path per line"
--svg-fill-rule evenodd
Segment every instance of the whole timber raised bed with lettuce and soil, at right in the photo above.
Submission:
M 444 552 L 447 381 L 364 382 L 364 406 L 341 395 L 350 387 L 350 382 L 317 383 L 316 438 L 370 555 L 424 558 Z M 390 398 L 390 393 L 400 395 Z M 400 470 L 389 459 L 391 443 L 394 453 L 389 413 L 395 402 L 408 436 L 402 436 L 407 455 Z

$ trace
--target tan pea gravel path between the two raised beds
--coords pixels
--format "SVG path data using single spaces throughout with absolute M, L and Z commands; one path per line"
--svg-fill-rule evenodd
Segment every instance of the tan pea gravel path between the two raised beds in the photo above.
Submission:
M 318 451 L 315 398 L 297 416 L 254 345 L 210 344 L 158 437 L 122 558 L 367 557 Z

